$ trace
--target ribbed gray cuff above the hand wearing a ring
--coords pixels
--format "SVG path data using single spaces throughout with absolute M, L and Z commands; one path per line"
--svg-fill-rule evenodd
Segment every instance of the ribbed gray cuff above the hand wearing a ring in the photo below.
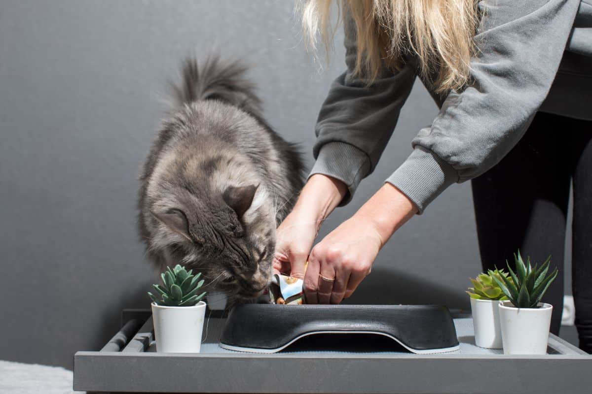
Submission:
M 432 151 L 416 146 L 397 171 L 386 180 L 403 192 L 423 213 L 442 191 L 458 181 L 456 170 Z

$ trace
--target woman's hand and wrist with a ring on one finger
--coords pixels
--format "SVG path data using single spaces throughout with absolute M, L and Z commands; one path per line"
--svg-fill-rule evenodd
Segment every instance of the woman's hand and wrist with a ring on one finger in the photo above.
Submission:
M 324 237 L 310 253 L 304 278 L 308 304 L 339 304 L 372 269 L 392 233 L 417 213 L 413 203 L 385 184 L 350 219 Z

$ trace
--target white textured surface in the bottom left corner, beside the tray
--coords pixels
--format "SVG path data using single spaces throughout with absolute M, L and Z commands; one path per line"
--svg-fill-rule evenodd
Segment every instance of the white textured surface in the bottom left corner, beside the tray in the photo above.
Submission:
M 0 360 L 0 393 L 70 394 L 72 371 L 62 367 L 23 364 Z

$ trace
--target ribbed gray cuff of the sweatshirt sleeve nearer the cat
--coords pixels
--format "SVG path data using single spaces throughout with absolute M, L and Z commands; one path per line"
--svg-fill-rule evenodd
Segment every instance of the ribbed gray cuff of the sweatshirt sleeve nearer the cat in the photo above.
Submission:
M 360 181 L 370 171 L 368 155 L 346 142 L 328 142 L 318 151 L 317 161 L 308 178 L 314 174 L 329 175 L 348 185 L 349 193 L 343 197 L 339 206 L 344 206 L 352 199 Z

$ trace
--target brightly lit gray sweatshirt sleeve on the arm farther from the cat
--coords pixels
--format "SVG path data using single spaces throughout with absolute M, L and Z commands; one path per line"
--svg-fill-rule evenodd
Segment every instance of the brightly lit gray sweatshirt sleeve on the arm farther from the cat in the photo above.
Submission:
M 471 83 L 446 97 L 387 182 L 422 212 L 493 167 L 522 138 L 555 78 L 580 1 L 482 0 Z

